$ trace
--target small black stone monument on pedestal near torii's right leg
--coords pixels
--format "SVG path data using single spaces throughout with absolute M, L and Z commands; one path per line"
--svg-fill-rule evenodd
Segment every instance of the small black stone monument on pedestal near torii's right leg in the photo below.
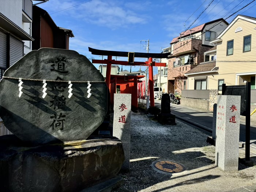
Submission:
M 161 113 L 158 114 L 158 122 L 166 125 L 176 125 L 175 115 L 170 110 L 170 95 L 165 93 L 161 98 Z

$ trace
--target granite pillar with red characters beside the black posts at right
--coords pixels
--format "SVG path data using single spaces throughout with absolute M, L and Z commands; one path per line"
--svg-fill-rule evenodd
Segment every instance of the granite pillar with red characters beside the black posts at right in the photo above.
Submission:
M 218 95 L 215 165 L 238 170 L 241 96 Z

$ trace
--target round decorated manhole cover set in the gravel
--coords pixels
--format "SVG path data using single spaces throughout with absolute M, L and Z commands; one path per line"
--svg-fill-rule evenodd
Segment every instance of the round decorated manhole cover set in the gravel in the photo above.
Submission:
M 166 173 L 180 173 L 186 168 L 180 163 L 167 160 L 158 160 L 152 163 L 153 168 Z

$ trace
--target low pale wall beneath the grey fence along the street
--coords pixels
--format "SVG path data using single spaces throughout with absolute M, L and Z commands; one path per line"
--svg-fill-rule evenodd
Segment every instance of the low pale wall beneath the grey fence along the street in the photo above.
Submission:
M 204 99 L 191 99 L 182 97 L 180 100 L 180 105 L 207 111 L 209 110 L 209 100 Z

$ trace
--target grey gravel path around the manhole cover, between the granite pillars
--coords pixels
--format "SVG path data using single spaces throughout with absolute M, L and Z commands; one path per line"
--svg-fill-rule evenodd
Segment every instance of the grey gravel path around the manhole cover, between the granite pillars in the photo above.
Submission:
M 237 172 L 215 167 L 215 147 L 206 143 L 205 133 L 178 120 L 177 125 L 161 125 L 134 113 L 131 119 L 131 169 L 120 173 L 124 184 L 113 192 L 224 192 L 256 183 L 255 166 L 239 164 Z M 151 163 L 161 159 L 188 170 L 172 176 L 158 173 Z

